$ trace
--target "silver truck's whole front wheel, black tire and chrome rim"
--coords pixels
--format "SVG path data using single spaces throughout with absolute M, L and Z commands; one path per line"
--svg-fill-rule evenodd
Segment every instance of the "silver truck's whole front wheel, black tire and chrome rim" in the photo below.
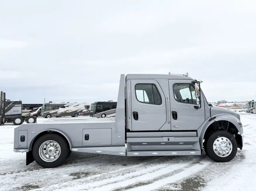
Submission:
M 235 137 L 226 131 L 217 131 L 209 136 L 206 143 L 209 158 L 216 162 L 228 162 L 236 156 Z

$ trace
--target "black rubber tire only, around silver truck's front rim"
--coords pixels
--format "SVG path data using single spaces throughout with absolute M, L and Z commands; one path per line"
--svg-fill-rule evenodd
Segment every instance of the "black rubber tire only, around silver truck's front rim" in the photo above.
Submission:
M 230 140 L 231 144 L 232 144 L 232 151 L 231 153 L 226 156 L 226 157 L 220 157 L 219 155 L 217 155 L 214 152 L 213 149 L 213 144 L 214 141 L 218 138 L 218 137 L 226 137 Z M 216 161 L 216 162 L 228 162 L 231 161 L 235 156 L 236 156 L 236 152 L 237 152 L 237 142 L 236 139 L 233 135 L 231 135 L 229 132 L 226 131 L 216 131 L 216 132 L 212 132 L 208 138 L 208 141 L 206 143 L 206 148 L 207 148 L 207 153 L 209 158 L 211 158 L 212 160 Z

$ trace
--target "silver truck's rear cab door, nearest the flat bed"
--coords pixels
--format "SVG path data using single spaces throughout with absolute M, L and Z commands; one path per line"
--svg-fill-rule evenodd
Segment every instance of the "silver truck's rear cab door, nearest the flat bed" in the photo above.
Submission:
M 131 80 L 132 131 L 156 131 L 166 123 L 164 93 L 155 80 Z

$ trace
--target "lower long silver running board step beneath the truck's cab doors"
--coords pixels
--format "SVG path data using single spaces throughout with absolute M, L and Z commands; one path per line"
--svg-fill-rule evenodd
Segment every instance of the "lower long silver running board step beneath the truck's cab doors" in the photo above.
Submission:
M 201 155 L 201 150 L 197 151 L 194 149 L 186 151 L 177 151 L 177 150 L 161 150 L 161 151 L 129 151 L 127 156 L 175 156 L 175 155 Z

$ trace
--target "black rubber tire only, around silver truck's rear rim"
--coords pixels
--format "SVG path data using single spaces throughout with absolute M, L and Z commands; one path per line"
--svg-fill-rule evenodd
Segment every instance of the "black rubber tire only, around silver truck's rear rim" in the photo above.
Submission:
M 42 160 L 42 158 L 39 156 L 39 148 L 41 144 L 43 144 L 45 141 L 56 141 L 60 148 L 61 148 L 61 154 L 59 155 L 59 158 L 53 162 L 46 162 Z M 55 168 L 58 167 L 59 165 L 63 164 L 63 162 L 68 158 L 69 154 L 69 148 L 66 143 L 66 141 L 59 135 L 55 134 L 46 134 L 40 137 L 36 142 L 35 145 L 32 149 L 33 157 L 35 161 L 37 162 L 38 165 L 44 168 Z

